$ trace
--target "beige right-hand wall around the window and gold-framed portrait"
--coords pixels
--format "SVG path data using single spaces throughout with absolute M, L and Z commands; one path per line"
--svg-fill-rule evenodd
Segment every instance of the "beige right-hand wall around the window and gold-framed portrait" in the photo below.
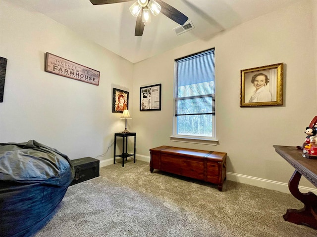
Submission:
M 138 154 L 149 157 L 149 149 L 160 145 L 227 152 L 228 179 L 287 190 L 293 168 L 272 146 L 301 145 L 305 127 L 317 115 L 312 30 L 311 1 L 303 1 L 135 64 L 133 125 Z M 174 59 L 213 47 L 219 145 L 172 142 Z M 281 62 L 284 105 L 240 108 L 240 70 Z M 140 87 L 156 83 L 162 84 L 161 111 L 140 112 Z M 314 187 L 308 181 L 301 185 Z

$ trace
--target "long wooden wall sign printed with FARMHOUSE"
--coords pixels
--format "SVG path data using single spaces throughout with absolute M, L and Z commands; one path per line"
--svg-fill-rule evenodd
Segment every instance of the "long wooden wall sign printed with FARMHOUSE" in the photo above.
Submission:
M 74 63 L 48 52 L 46 53 L 45 71 L 66 78 L 99 85 L 99 71 L 85 67 L 78 63 Z

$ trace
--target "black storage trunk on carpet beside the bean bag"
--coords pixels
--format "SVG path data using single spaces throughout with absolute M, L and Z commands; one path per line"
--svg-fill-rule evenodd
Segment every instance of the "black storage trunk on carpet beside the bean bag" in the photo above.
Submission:
M 85 157 L 71 160 L 75 169 L 75 177 L 69 186 L 99 176 L 99 159 Z

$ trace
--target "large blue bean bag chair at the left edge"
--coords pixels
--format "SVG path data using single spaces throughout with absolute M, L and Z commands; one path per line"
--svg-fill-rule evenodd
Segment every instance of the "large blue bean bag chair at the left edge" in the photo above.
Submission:
M 53 216 L 74 178 L 70 159 L 30 140 L 0 143 L 0 237 L 29 237 Z

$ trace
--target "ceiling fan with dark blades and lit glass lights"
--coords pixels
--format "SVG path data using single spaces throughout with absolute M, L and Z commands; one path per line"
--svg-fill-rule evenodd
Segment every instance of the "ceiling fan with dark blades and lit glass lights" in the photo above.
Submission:
M 118 3 L 133 0 L 90 0 L 93 5 Z M 183 13 L 165 3 L 162 0 L 137 0 L 130 6 L 130 12 L 137 17 L 135 25 L 135 36 L 142 36 L 145 22 L 151 21 L 151 12 L 153 15 L 158 15 L 159 12 L 175 21 L 180 25 L 184 25 L 188 17 Z

